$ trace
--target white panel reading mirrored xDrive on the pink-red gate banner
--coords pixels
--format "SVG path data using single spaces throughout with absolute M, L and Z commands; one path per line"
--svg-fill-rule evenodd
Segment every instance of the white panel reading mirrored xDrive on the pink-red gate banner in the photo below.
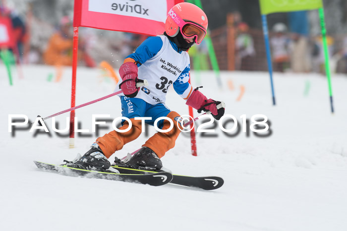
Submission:
M 88 10 L 165 23 L 168 6 L 166 0 L 89 0 Z

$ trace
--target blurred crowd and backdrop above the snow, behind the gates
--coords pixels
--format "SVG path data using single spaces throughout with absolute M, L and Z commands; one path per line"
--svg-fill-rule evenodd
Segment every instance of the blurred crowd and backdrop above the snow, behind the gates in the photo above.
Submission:
M 332 72 L 347 73 L 347 1 L 323 0 Z M 70 65 L 72 0 L 0 0 L 24 64 Z M 202 0 L 221 70 L 267 71 L 258 0 Z M 317 10 L 267 16 L 274 71 L 324 73 Z M 146 36 L 80 28 L 79 65 L 118 68 Z M 58 50 L 58 51 L 57 51 Z M 58 53 L 57 53 L 58 52 Z M 192 69 L 212 69 L 206 44 L 190 51 Z M 54 58 L 59 55 L 59 58 Z

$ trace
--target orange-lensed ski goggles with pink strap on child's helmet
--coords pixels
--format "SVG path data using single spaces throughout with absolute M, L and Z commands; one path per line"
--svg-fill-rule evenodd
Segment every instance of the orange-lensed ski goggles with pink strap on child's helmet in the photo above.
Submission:
M 201 44 L 202 40 L 205 38 L 206 30 L 192 22 L 185 22 L 181 19 L 173 10 L 169 12 L 169 15 L 173 18 L 173 21 L 179 26 L 179 30 L 183 37 L 186 39 L 194 38 L 196 44 Z

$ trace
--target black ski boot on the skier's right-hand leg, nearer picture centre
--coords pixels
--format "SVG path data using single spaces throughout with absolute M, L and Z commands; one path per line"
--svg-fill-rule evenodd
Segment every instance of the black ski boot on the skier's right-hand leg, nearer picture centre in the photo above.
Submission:
M 159 171 L 163 167 L 162 161 L 149 147 L 142 147 L 125 164 L 130 168 L 149 171 Z

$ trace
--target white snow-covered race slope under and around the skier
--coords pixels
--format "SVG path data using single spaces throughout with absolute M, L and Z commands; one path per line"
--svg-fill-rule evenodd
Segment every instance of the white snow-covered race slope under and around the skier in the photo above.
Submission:
M 258 138 L 240 133 L 234 138 L 218 131 L 218 138 L 197 137 L 198 157 L 190 154 L 190 140 L 180 135 L 162 158 L 180 175 L 215 175 L 225 185 L 204 191 L 177 185 L 154 187 L 108 180 L 60 176 L 39 171 L 33 160 L 62 163 L 83 154 L 96 139 L 68 138 L 17 131 L 8 133 L 8 114 L 30 120 L 70 107 L 71 69 L 62 80 L 48 82 L 55 68 L 24 66 L 24 79 L 13 70 L 10 87 L 0 65 L 0 230 L 235 230 L 346 231 L 347 230 L 347 78 L 333 77 L 336 113 L 331 114 L 326 78 L 319 74 L 275 74 L 278 105 L 272 105 L 269 76 L 256 72 L 222 72 L 219 90 L 213 72 L 201 73 L 201 90 L 225 101 L 226 114 L 239 117 L 264 114 L 272 135 Z M 76 105 L 113 92 L 115 83 L 98 69 L 78 68 Z M 192 73 L 192 77 L 196 76 Z M 230 82 L 231 81 L 231 82 Z M 234 90 L 228 88 L 232 83 Z M 230 84 L 229 83 L 229 84 Z M 240 86 L 244 96 L 236 101 Z M 305 88 L 310 86 L 307 95 Z M 184 101 L 169 91 L 167 105 L 188 114 Z M 82 129 L 91 129 L 92 114 L 120 116 L 117 96 L 76 111 Z M 195 115 L 197 113 L 195 112 Z M 65 126 L 66 116 L 57 117 Z M 51 119 L 47 126 L 52 128 Z M 51 129 L 52 130 L 52 129 Z M 111 128 L 109 129 L 111 131 Z M 102 130 L 101 135 L 108 132 Z M 154 130 L 150 130 L 153 134 Z M 116 154 L 138 149 L 144 135 Z M 110 159 L 112 160 L 114 156 Z

